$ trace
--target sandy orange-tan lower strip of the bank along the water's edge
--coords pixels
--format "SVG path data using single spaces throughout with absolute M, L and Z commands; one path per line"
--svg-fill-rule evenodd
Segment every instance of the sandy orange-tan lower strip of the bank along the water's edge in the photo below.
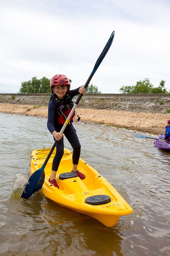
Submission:
M 0 112 L 47 117 L 48 107 L 0 103 Z M 134 111 L 84 109 L 79 107 L 77 107 L 76 112 L 81 117 L 80 121 L 102 123 L 154 135 L 164 133 L 164 127 L 169 118 L 168 113 L 136 113 Z

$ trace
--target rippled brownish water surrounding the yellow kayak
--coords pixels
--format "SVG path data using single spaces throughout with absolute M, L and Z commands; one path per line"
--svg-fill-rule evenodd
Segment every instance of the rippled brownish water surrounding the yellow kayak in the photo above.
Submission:
M 53 145 L 46 118 L 0 113 L 0 255 L 170 255 L 170 153 L 133 131 L 75 123 L 81 158 L 133 208 L 109 228 L 36 193 L 11 197 L 16 174 L 29 177 L 35 149 Z M 65 139 L 65 148 L 72 150 Z

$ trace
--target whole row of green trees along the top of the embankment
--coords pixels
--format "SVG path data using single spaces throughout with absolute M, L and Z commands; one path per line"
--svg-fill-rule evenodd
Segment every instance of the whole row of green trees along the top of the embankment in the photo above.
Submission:
M 71 79 L 70 86 L 71 86 Z M 165 88 L 165 82 L 164 80 L 160 81 L 160 84 L 158 87 L 154 87 L 154 85 L 150 82 L 149 78 L 145 78 L 144 80 L 140 80 L 136 83 L 136 85 L 128 85 L 128 86 L 122 86 L 120 88 L 120 93 L 169 93 L 167 91 L 167 88 Z M 19 93 L 51 93 L 50 89 L 50 79 L 43 77 L 40 79 L 37 79 L 37 77 L 32 77 L 29 81 L 24 81 L 21 83 L 21 87 L 19 89 Z M 96 85 L 88 85 L 86 93 L 101 93 L 101 91 L 98 90 L 98 87 Z

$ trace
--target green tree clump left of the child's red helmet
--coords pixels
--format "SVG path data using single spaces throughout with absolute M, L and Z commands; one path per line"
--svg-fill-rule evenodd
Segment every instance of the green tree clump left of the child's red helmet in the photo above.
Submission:
M 31 80 L 21 83 L 19 93 L 51 93 L 50 79 L 46 77 L 41 79 L 32 77 Z

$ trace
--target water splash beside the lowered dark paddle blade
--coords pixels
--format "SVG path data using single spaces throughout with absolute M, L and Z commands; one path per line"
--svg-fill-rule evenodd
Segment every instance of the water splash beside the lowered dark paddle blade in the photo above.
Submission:
M 20 199 L 23 193 L 24 187 L 28 182 L 28 179 L 21 173 L 16 174 L 17 178 L 14 181 L 12 187 L 12 197 L 14 199 Z

